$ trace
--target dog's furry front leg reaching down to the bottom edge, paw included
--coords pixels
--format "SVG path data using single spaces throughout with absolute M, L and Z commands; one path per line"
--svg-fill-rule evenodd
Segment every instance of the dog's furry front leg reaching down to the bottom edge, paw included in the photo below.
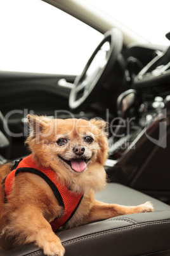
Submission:
M 24 243 L 34 242 L 48 256 L 63 256 L 65 253 L 60 239 L 52 231 L 42 211 L 35 206 L 31 209 L 24 207 L 11 214 L 10 225 L 4 228 L 4 233 L 18 236 L 18 241 L 24 239 Z

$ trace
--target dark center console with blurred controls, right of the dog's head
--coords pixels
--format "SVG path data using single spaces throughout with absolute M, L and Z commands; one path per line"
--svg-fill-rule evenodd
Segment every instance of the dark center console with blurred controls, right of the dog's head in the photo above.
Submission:
M 109 138 L 108 178 L 169 203 L 170 95 L 145 97 L 135 108 L 129 131 Z

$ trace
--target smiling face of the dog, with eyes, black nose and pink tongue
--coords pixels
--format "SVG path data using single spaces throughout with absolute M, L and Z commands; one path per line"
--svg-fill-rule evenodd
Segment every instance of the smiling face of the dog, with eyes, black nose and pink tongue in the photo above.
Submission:
M 56 137 L 56 153 L 60 162 L 77 173 L 86 170 L 89 162 L 95 158 L 97 148 L 94 134 L 82 129 Z

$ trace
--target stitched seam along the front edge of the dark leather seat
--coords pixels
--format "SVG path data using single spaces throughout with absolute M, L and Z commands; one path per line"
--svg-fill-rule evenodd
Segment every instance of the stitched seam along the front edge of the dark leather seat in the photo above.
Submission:
M 138 224 L 138 227 L 148 226 L 148 225 L 167 224 L 167 223 L 170 223 L 170 221 L 149 223 L 149 224 Z M 84 238 L 75 238 L 75 239 L 72 239 L 72 241 L 63 242 L 62 244 L 63 245 L 68 245 L 69 243 L 74 243 L 75 241 L 81 241 L 81 240 L 93 238 L 93 237 L 96 237 L 96 236 L 103 236 L 105 234 L 109 234 L 109 233 L 112 233 L 112 232 L 117 232 L 117 231 L 120 231 L 120 230 L 133 229 L 134 227 L 136 227 L 136 225 L 135 226 L 133 225 L 133 226 L 130 226 L 130 227 L 122 227 L 122 228 L 114 229 L 114 230 L 111 230 L 111 231 L 104 231 L 104 232 L 101 231 L 101 232 L 98 232 L 98 234 L 89 234 L 89 235 L 85 236 Z

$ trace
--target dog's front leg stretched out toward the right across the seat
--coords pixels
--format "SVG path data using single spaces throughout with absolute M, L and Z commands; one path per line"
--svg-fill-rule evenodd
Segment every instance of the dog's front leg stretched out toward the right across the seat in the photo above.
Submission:
M 95 220 L 105 220 L 107 218 L 132 213 L 145 213 L 147 211 L 154 211 L 150 202 L 146 202 L 145 204 L 140 204 L 138 206 L 122 206 L 119 204 L 101 203 L 100 201 L 95 200 L 85 222 L 88 223 Z

